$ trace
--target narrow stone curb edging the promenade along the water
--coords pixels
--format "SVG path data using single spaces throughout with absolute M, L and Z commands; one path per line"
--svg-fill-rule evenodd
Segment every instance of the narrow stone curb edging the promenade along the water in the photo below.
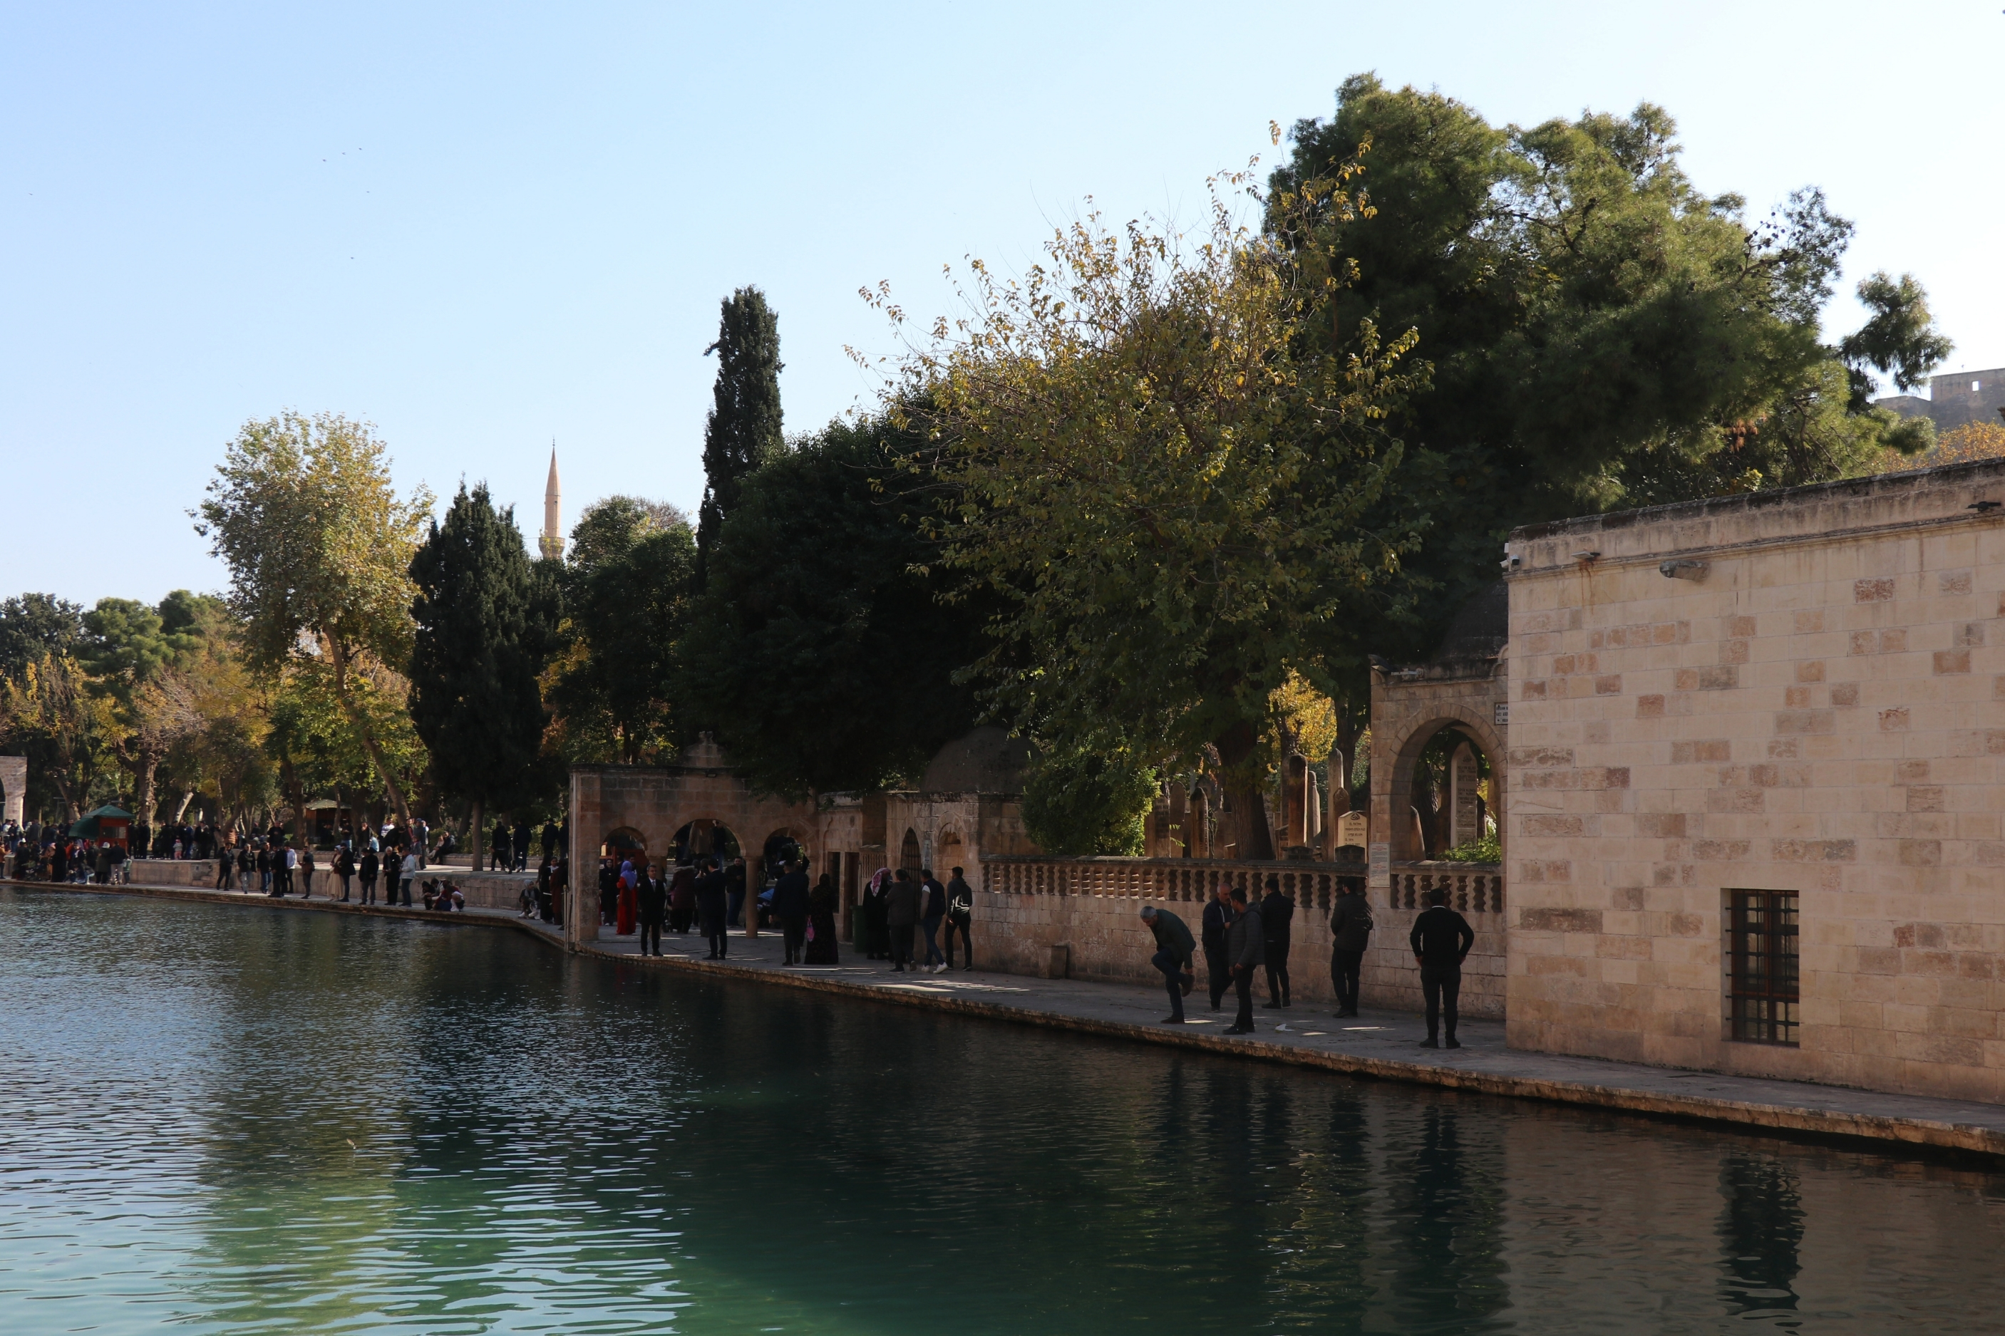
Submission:
M 469 913 L 441 913 L 435 909 L 403 909 L 403 907 L 391 909 L 385 905 L 359 905 L 359 903 L 319 901 L 319 899 L 275 899 L 267 895 L 243 895 L 237 891 L 200 891 L 186 887 L 74 885 L 74 883 L 42 883 L 42 881 L 0 881 L 0 885 L 34 889 L 34 891 L 82 893 L 82 895 L 146 895 L 154 899 L 200 901 L 217 905 L 255 905 L 267 909 L 271 907 L 315 909 L 321 913 L 365 913 L 375 917 L 423 919 L 427 923 L 453 923 L 465 927 L 471 925 L 513 927 L 549 947 L 555 947 L 559 951 L 563 949 L 561 937 L 555 937 L 553 933 L 537 925 L 531 925 L 523 919 L 509 919 L 509 917 L 487 917 L 487 915 L 475 917 Z M 642 965 L 650 969 L 682 969 L 694 973 L 708 973 L 714 977 L 774 983 L 782 987 L 798 987 L 808 991 L 844 993 L 850 997 L 866 997 L 870 1001 L 926 1008 L 934 1012 L 958 1012 L 962 1016 L 980 1016 L 988 1020 L 1045 1026 L 1051 1030 L 1071 1030 L 1079 1034 L 1095 1034 L 1119 1040 L 1141 1040 L 1147 1044 L 1201 1050 L 1207 1054 L 1221 1054 L 1231 1058 L 1259 1058 L 1265 1062 L 1285 1062 L 1293 1066 L 1325 1068 L 1349 1076 L 1406 1082 L 1418 1086 L 1438 1086 L 1446 1090 L 1472 1090 L 1472 1092 L 1510 1096 L 1520 1100 L 1546 1100 L 1554 1104 L 1606 1108 L 1606 1110 L 1620 1110 L 1626 1114 L 1688 1118 L 1698 1122 L 1732 1124 L 1738 1128 L 1837 1136 L 1847 1140 L 1865 1140 L 1881 1144 L 1891 1142 L 1897 1146 L 1953 1150 L 1953 1152 L 2005 1160 L 2005 1132 L 1975 1124 L 1937 1122 L 1927 1118 L 1881 1118 L 1871 1114 L 1792 1108 L 1784 1104 L 1760 1104 L 1748 1100 L 1718 1100 L 1708 1096 L 1676 1096 L 1664 1092 L 1624 1090 L 1620 1086 L 1594 1086 L 1584 1082 L 1502 1076 L 1496 1072 L 1470 1072 L 1470 1070 L 1442 1068 L 1416 1062 L 1395 1062 L 1387 1058 L 1369 1058 L 1359 1054 L 1329 1054 L 1303 1048 L 1289 1048 L 1285 1044 L 1265 1044 L 1261 1040 L 1247 1040 L 1247 1038 L 1225 1038 L 1215 1034 L 1191 1034 L 1177 1030 L 1165 1032 L 1151 1026 L 1135 1026 L 1127 1022 L 1109 1022 L 1083 1016 L 1065 1016 L 1057 1012 L 1043 1012 L 1035 1008 L 1009 1006 L 998 1001 L 976 1001 L 968 997 L 940 997 L 930 993 L 886 991 L 882 985 L 852 983 L 844 979 L 828 979 L 818 975 L 780 973 L 778 969 L 734 965 L 728 961 L 626 955 L 620 951 L 604 951 L 591 945 L 581 947 L 577 953 L 595 955 L 599 959 L 612 959 L 626 965 Z

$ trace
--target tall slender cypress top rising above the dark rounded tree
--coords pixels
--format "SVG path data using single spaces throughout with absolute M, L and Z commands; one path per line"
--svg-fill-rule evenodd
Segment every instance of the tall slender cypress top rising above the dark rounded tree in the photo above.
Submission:
M 784 449 L 780 435 L 780 316 L 758 288 L 724 298 L 718 385 L 704 425 L 704 505 L 696 519 L 696 587 L 702 589 L 724 517 L 738 507 L 744 479 Z

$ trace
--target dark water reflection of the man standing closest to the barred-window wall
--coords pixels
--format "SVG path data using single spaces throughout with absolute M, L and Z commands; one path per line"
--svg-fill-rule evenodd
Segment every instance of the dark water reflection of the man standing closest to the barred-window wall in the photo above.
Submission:
M 1422 1116 L 1395 1244 L 1399 1330 L 1486 1332 L 1510 1306 L 1504 1280 L 1504 1166 L 1484 1118 L 1450 1104 Z M 1468 1144 L 1466 1144 L 1468 1142 Z

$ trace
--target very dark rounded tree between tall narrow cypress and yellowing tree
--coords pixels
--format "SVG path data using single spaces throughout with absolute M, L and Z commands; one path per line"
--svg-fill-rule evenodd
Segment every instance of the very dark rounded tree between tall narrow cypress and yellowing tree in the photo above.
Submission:
M 984 649 L 920 535 L 922 441 L 832 423 L 746 479 L 678 639 L 686 707 L 760 789 L 804 797 L 916 775 L 974 723 L 956 673 Z

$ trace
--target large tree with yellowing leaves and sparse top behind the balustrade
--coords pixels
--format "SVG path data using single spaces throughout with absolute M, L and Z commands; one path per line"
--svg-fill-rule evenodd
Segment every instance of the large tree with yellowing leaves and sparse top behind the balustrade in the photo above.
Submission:
M 1353 208 L 1341 174 L 1313 194 Z M 1404 345 L 1305 337 L 1347 272 L 1285 262 L 1223 196 L 1205 236 L 1087 218 L 1047 250 L 1017 282 L 976 264 L 972 314 L 906 365 L 942 561 L 1002 601 L 988 703 L 1053 753 L 1207 759 L 1239 857 L 1273 857 L 1269 695 L 1327 671 L 1406 547 L 1371 527 Z

